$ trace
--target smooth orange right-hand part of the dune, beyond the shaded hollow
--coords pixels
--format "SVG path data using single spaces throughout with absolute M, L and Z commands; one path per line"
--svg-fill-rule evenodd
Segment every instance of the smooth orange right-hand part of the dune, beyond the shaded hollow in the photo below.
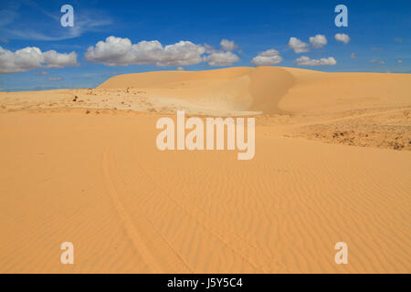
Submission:
M 279 102 L 288 111 L 342 111 L 410 105 L 410 74 L 319 73 L 287 68 L 295 85 Z

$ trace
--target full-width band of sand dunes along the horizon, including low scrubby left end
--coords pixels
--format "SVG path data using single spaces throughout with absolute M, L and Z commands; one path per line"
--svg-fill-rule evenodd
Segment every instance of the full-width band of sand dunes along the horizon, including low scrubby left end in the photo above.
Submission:
M 409 74 L 224 68 L 116 76 L 96 89 L 0 92 L 3 110 L 91 108 L 193 114 L 329 113 L 410 106 Z M 45 94 L 46 93 L 46 94 Z M 73 99 L 78 96 L 75 102 Z

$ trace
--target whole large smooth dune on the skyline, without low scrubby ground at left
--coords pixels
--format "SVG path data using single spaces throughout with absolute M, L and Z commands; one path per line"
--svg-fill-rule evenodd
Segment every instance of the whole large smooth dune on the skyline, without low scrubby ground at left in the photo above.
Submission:
M 278 114 L 409 105 L 409 74 L 323 73 L 298 68 L 224 68 L 116 76 L 97 89 L 143 89 L 220 113 Z

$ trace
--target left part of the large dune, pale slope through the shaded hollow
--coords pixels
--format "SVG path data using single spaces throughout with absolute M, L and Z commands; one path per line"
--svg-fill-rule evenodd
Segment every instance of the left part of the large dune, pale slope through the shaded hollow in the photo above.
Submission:
M 288 71 L 259 67 L 125 74 L 108 79 L 97 89 L 138 88 L 158 98 L 206 109 L 279 113 L 279 100 L 293 84 Z

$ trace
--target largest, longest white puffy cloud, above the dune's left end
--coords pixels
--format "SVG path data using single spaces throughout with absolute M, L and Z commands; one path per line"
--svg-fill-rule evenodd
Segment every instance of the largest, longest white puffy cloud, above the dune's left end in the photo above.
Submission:
M 200 63 L 205 47 L 190 41 L 180 41 L 163 47 L 157 41 L 141 41 L 132 45 L 129 38 L 109 36 L 95 47 L 89 47 L 85 57 L 93 63 L 108 66 L 155 64 L 156 66 L 186 66 Z

